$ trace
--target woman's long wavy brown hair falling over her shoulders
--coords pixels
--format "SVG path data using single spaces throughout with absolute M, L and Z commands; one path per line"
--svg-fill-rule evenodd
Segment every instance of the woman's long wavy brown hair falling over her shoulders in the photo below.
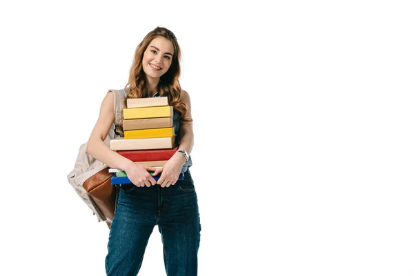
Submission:
M 132 61 L 132 66 L 130 68 L 128 83 L 126 83 L 125 86 L 126 98 L 124 104 L 126 106 L 127 99 L 148 97 L 149 91 L 146 85 L 146 75 L 144 69 L 142 68 L 142 59 L 144 57 L 144 52 L 152 39 L 159 36 L 165 37 L 172 42 L 172 45 L 174 46 L 174 56 L 172 57 L 170 68 L 159 79 L 157 91 L 161 97 L 168 97 L 168 104 L 173 106 L 174 110 L 179 112 L 180 121 L 193 121 L 193 119 L 185 117 L 187 107 L 185 103 L 181 102 L 182 90 L 179 85 L 179 75 L 181 73 L 179 61 L 181 59 L 181 50 L 175 34 L 163 27 L 157 27 L 148 32 L 146 37 L 144 37 L 141 43 L 137 46 L 134 60 Z

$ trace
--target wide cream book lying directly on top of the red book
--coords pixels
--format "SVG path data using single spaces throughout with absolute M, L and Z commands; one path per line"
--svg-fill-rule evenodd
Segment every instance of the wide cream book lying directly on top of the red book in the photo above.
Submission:
M 124 139 L 110 140 L 110 150 L 156 150 L 159 148 L 173 148 L 175 136 L 162 138 Z

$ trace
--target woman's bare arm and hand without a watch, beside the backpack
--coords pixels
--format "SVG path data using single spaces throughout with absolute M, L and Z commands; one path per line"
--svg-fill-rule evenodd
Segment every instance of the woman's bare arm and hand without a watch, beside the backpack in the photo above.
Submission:
M 155 168 L 135 164 L 130 161 L 130 159 L 110 150 L 110 148 L 103 142 L 115 120 L 113 110 L 114 93 L 108 92 L 102 101 L 98 121 L 90 134 L 86 152 L 99 161 L 102 161 L 104 164 L 107 164 L 110 168 L 124 170 L 132 183 L 137 186 L 150 186 L 151 184 L 156 184 L 155 179 L 153 179 L 147 171 L 155 170 Z

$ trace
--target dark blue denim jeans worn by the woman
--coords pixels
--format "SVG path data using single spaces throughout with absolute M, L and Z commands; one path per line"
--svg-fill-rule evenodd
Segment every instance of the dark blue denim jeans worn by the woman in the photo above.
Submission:
M 158 225 L 168 276 L 197 275 L 201 224 L 190 171 L 161 188 L 124 184 L 109 233 L 106 275 L 137 275 L 152 229 Z

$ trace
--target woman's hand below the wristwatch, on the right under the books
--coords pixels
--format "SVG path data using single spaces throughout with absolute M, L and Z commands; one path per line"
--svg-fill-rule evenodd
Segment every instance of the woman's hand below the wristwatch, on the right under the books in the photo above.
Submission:
M 152 176 L 156 176 L 162 172 L 159 177 L 157 184 L 161 185 L 162 188 L 174 185 L 177 182 L 181 168 L 186 163 L 186 158 L 181 152 L 175 152 L 174 155 L 167 161 L 167 163 L 157 170 L 155 170 Z

